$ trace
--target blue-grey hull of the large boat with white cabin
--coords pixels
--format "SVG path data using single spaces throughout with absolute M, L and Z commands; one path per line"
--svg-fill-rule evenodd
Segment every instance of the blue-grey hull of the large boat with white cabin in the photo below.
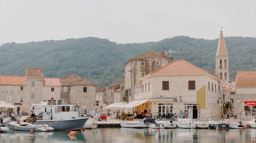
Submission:
M 67 120 L 37 120 L 32 122 L 35 125 L 47 124 L 54 130 L 81 130 L 89 118 L 76 118 Z

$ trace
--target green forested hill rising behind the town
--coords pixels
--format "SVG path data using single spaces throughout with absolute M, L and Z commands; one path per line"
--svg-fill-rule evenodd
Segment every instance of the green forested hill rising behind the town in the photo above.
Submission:
M 236 70 L 256 70 L 256 38 L 226 37 L 230 81 Z M 87 37 L 46 40 L 30 43 L 6 43 L 0 46 L 0 75 L 25 75 L 26 68 L 43 68 L 44 77 L 62 77 L 77 73 L 98 87 L 122 80 L 124 64 L 152 49 L 169 51 L 173 59 L 185 59 L 210 72 L 215 70 L 218 39 L 205 40 L 185 36 L 158 42 L 117 44 L 107 39 Z

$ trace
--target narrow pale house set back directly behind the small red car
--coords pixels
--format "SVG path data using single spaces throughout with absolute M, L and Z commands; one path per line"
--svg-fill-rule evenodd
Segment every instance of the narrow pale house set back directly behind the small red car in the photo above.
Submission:
M 101 87 L 96 90 L 96 109 L 99 112 L 103 112 L 103 104 L 106 104 L 106 87 Z

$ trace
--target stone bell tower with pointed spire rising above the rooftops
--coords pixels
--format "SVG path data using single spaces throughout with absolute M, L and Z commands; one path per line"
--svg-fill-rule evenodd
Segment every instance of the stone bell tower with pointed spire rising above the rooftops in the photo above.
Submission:
M 225 44 L 225 40 L 223 37 L 222 28 L 220 29 L 220 37 L 216 52 L 216 75 L 221 79 L 220 82 L 223 84 L 229 83 L 229 68 L 228 68 L 228 54 L 227 48 Z

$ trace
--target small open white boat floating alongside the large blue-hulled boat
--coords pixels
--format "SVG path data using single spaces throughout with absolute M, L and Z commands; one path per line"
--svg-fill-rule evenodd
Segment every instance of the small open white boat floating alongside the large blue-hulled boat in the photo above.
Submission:
M 53 131 L 54 129 L 52 127 L 49 127 L 46 124 L 43 125 L 33 125 L 27 122 L 10 122 L 10 126 L 13 126 L 13 129 L 20 130 L 20 131 L 40 131 L 40 132 L 47 132 L 47 131 Z

